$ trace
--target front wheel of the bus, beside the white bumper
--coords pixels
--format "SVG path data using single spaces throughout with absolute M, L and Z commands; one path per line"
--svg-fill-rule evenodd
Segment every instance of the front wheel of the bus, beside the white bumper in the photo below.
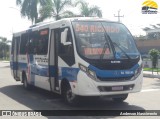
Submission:
M 72 90 L 69 84 L 66 85 L 63 96 L 65 99 L 65 102 L 71 106 L 75 106 L 79 102 L 78 96 L 72 93 Z

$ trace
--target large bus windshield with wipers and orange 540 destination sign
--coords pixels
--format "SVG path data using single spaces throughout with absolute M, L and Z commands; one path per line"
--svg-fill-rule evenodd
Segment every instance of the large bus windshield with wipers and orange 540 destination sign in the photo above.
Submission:
M 132 35 L 120 23 L 73 22 L 77 50 L 87 59 L 135 59 L 139 57 Z

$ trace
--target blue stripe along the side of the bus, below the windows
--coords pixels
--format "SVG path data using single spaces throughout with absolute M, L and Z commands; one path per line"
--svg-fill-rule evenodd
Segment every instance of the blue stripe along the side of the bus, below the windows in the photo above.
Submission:
M 16 62 L 12 62 L 11 64 L 16 64 Z M 30 64 L 31 67 L 31 75 L 39 75 L 44 77 L 55 77 L 56 76 L 56 67 L 54 65 L 36 65 Z M 12 68 L 12 67 L 11 67 Z M 13 68 L 14 70 L 27 71 L 27 63 L 18 63 L 18 68 Z M 71 67 L 60 67 L 62 75 L 59 76 L 59 79 L 63 78 L 68 79 L 70 81 L 77 80 L 77 74 L 79 72 L 79 68 L 71 68 Z M 33 76 L 32 76 L 33 78 Z

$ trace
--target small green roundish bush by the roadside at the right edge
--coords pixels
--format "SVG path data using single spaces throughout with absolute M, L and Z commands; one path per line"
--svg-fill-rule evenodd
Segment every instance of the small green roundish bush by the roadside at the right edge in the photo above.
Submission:
M 158 62 L 159 51 L 156 50 L 156 49 L 151 49 L 149 51 L 149 55 L 151 56 L 153 68 L 156 68 L 156 65 L 157 65 L 157 62 Z

